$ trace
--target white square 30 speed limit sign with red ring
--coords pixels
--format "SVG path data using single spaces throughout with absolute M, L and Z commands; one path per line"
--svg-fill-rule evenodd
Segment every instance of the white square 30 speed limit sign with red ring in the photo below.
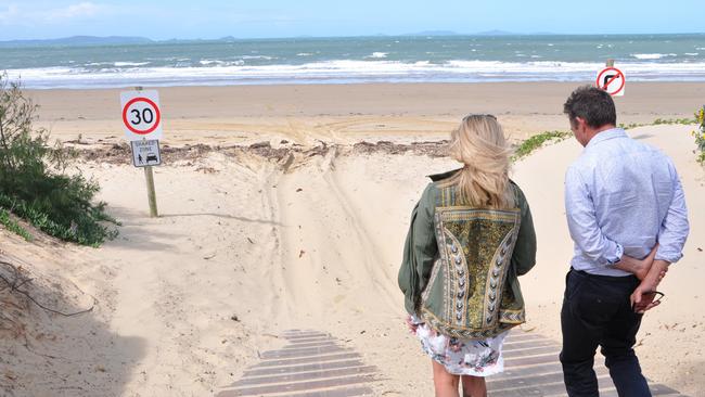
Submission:
M 123 125 L 129 141 L 162 138 L 162 111 L 157 91 L 120 92 Z

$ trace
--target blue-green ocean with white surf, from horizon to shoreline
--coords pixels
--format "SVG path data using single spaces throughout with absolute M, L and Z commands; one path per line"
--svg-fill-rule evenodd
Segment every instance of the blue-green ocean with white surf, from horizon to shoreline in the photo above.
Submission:
M 705 81 L 705 34 L 375 36 L 0 48 L 26 88 L 351 82 Z

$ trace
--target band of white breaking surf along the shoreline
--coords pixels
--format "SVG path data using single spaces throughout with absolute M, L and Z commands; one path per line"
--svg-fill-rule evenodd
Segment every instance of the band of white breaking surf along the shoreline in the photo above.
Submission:
M 603 67 L 598 62 L 516 59 L 514 62 L 454 60 L 444 63 L 388 60 L 333 60 L 305 64 L 251 65 L 244 61 L 211 67 L 47 67 L 8 71 L 28 88 L 107 88 L 129 86 L 223 86 L 369 81 L 587 81 Z M 204 60 L 207 61 L 207 60 Z M 528 62 L 527 62 L 528 61 Z M 705 81 L 705 62 L 620 63 L 632 81 Z

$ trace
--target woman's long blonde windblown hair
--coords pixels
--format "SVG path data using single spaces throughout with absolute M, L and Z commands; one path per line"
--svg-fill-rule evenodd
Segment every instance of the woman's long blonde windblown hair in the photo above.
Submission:
M 440 185 L 456 185 L 465 205 L 512 208 L 515 203 L 509 181 L 511 153 L 495 116 L 465 116 L 452 131 L 449 146 L 450 156 L 464 167 Z

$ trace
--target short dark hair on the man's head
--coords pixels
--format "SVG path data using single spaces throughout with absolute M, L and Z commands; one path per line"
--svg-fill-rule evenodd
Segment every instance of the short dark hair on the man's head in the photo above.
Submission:
M 604 125 L 617 125 L 617 111 L 612 95 L 597 87 L 579 87 L 563 104 L 563 113 L 568 115 L 571 125 L 580 117 L 588 126 L 600 128 Z

